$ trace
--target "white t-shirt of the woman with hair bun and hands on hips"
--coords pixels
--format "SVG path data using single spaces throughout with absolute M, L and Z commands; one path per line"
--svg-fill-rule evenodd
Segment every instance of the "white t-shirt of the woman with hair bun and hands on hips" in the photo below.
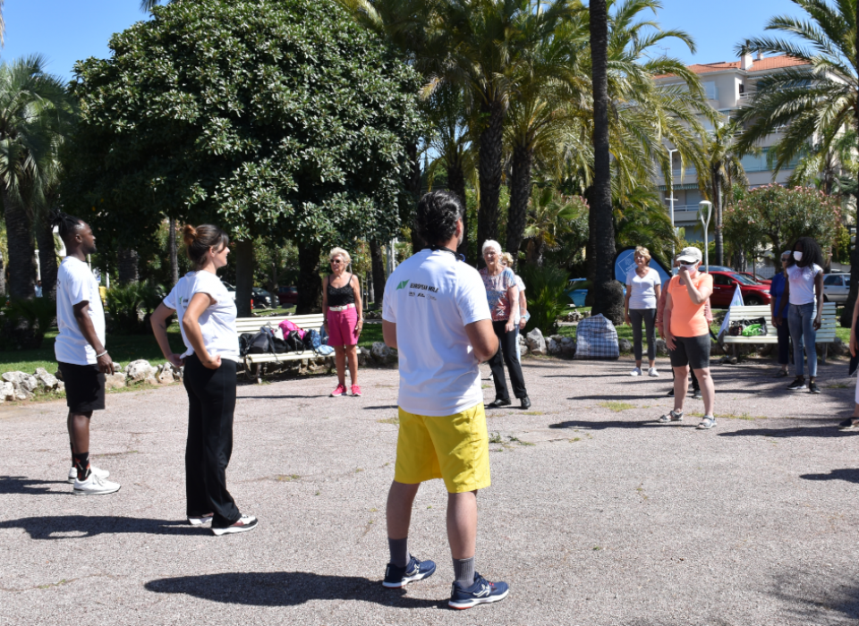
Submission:
M 195 293 L 208 293 L 215 300 L 215 304 L 209 305 L 198 320 L 206 350 L 212 357 L 220 354 L 221 359 L 238 361 L 239 337 L 235 333 L 235 302 L 226 292 L 221 279 L 211 272 L 188 272 L 164 299 L 164 306 L 174 309 L 179 316 L 179 329 L 187 348 L 183 358 L 194 353 L 188 337 L 185 336 L 182 318 Z

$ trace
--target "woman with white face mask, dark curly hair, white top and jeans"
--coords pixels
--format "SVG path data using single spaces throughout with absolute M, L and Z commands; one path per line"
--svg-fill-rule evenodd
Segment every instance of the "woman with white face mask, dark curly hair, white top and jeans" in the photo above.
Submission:
M 817 331 L 821 327 L 823 314 L 823 253 L 817 241 L 811 237 L 800 237 L 792 250 L 793 255 L 787 259 L 785 299 L 790 303 L 787 327 L 794 342 L 796 378 L 787 389 L 804 391 L 807 388 L 811 393 L 821 393 L 817 386 Z M 807 387 L 803 345 L 808 357 Z

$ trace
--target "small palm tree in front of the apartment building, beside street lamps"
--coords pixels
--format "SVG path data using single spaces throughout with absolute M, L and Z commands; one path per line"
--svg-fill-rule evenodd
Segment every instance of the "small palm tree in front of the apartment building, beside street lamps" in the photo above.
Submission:
M 702 135 L 704 167 L 699 171 L 698 188 L 716 208 L 716 263 L 725 265 L 722 216 L 724 199 L 730 195 L 734 183 L 747 185 L 742 158 L 736 150 L 736 136 L 740 131 L 736 121 L 717 122 L 712 131 Z

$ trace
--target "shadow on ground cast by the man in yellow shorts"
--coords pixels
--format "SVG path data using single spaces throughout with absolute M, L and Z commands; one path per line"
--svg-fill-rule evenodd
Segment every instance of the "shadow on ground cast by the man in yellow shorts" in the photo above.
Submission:
M 149 591 L 185 594 L 230 605 L 294 606 L 310 600 L 360 600 L 402 608 L 447 606 L 446 600 L 405 596 L 378 580 L 357 576 L 322 576 L 309 571 L 245 571 L 150 580 Z

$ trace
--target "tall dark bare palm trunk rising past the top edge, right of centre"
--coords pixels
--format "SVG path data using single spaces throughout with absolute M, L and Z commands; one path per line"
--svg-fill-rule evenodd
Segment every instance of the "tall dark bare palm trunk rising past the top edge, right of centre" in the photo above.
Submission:
M 591 81 L 593 89 L 593 203 L 596 231 L 593 314 L 623 321 L 623 289 L 614 276 L 615 224 L 611 214 L 611 159 L 608 149 L 608 13 L 606 0 L 591 0 Z

